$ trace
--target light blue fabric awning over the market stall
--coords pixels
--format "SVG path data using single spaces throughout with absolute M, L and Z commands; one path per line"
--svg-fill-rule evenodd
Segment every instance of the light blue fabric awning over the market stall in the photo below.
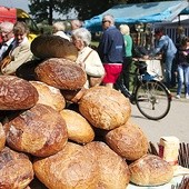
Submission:
M 189 2 L 182 1 L 159 1 L 135 4 L 119 4 L 106 12 L 84 21 L 84 27 L 90 31 L 101 31 L 102 16 L 110 13 L 116 19 L 116 24 L 121 23 L 153 23 L 170 22 L 181 11 L 189 7 Z

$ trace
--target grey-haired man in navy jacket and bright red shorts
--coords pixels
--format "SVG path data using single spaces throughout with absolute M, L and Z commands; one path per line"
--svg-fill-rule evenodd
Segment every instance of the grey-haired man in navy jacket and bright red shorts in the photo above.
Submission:
M 98 53 L 106 70 L 102 82 L 106 87 L 113 88 L 122 70 L 125 40 L 122 33 L 115 26 L 113 16 L 103 16 L 102 28 L 103 33 L 98 46 Z

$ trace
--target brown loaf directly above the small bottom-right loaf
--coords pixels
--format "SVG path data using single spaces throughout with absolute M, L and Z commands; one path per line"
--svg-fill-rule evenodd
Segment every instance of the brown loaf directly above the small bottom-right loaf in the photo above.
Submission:
M 108 131 L 106 142 L 127 160 L 137 160 L 148 152 L 147 137 L 137 125 L 130 121 Z

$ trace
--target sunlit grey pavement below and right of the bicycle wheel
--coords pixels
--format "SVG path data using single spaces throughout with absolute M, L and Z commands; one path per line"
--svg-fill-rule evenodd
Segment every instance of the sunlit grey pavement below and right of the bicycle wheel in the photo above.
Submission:
M 161 120 L 155 121 L 143 117 L 131 105 L 131 118 L 142 131 L 149 141 L 157 145 L 161 137 L 175 136 L 180 142 L 189 143 L 189 99 L 172 98 L 169 113 Z

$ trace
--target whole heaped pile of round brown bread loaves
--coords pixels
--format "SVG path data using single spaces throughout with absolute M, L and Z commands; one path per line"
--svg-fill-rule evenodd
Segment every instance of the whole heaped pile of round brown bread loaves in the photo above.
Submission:
M 74 51 L 69 54 L 72 46 L 67 41 L 51 51 L 56 41 L 33 42 L 32 52 L 46 59 L 34 69 L 36 81 L 0 76 L 0 188 L 126 189 L 129 182 L 169 182 L 172 167 L 148 153 L 129 99 L 102 86 L 83 90 L 87 76 L 74 63 Z

